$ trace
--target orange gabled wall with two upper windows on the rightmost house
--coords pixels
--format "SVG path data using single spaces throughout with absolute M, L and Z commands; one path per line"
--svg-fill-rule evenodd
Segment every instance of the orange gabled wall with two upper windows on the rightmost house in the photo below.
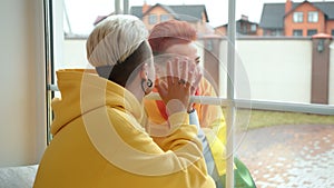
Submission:
M 313 23 L 313 22 L 307 21 L 307 12 L 310 12 L 310 11 L 318 12 L 318 22 Z M 303 22 L 294 22 L 293 21 L 294 12 L 303 12 Z M 325 32 L 325 16 L 318 9 L 313 7 L 311 3 L 305 2 L 305 3 L 301 4 L 299 7 L 297 7 L 296 9 L 294 9 L 294 11 L 292 11 L 291 13 L 288 13 L 285 17 L 284 27 L 285 27 L 284 28 L 285 36 L 293 36 L 293 30 L 296 30 L 296 29 L 303 30 L 304 37 L 307 36 L 308 29 L 316 29 L 318 33 Z

